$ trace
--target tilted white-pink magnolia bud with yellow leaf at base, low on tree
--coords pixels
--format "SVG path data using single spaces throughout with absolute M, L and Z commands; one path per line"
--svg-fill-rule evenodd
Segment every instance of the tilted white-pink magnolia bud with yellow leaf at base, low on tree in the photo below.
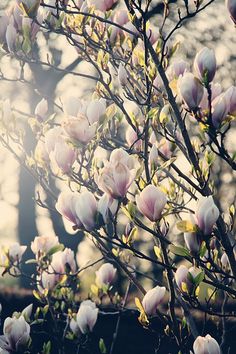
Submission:
M 145 294 L 142 305 L 148 316 L 155 315 L 158 306 L 163 302 L 165 293 L 164 286 L 156 286 Z

